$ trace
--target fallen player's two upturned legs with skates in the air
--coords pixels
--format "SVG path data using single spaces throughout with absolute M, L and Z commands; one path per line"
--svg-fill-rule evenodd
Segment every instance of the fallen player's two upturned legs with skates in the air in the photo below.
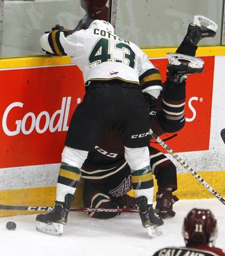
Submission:
M 164 84 L 164 88 L 169 92 L 170 96 L 168 97 L 167 95 L 164 98 L 165 111 L 161 118 L 166 118 L 167 120 L 161 120 L 160 122 L 165 126 L 162 127 L 163 130 L 166 129 L 164 131 L 174 132 L 172 127 L 175 119 L 177 120 L 176 125 L 180 126 L 180 128 L 178 127 L 179 130 L 181 130 L 182 125 L 184 126 L 184 118 L 181 119 L 183 123 L 179 123 L 178 115 L 182 113 L 179 108 L 182 108 L 182 106 L 184 108 L 185 98 L 182 95 L 185 93 L 185 80 L 187 75 L 203 71 L 203 62 L 201 64 L 198 58 L 193 58 L 196 55 L 197 44 L 206 37 L 215 37 L 217 28 L 217 24 L 207 17 L 195 15 L 193 23 L 188 26 L 184 40 L 176 50 L 176 54 L 167 55 L 169 63 L 167 64 L 167 81 L 166 86 Z M 179 88 L 179 86 L 183 87 L 183 89 Z M 183 93 L 182 90 L 184 91 Z M 177 101 L 176 104 L 175 101 Z M 171 104 L 177 107 L 177 113 L 174 113 L 175 108 L 173 106 L 170 107 Z M 168 116 L 166 117 L 166 115 Z

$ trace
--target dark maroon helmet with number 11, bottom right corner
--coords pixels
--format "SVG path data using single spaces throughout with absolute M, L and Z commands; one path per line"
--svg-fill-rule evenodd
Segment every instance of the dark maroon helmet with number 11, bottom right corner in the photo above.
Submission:
M 194 208 L 184 219 L 182 234 L 186 244 L 214 242 L 217 233 L 217 220 L 210 210 Z

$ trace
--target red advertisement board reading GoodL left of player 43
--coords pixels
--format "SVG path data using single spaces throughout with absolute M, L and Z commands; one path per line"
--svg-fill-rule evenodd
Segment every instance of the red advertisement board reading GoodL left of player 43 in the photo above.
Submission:
M 1 70 L 0 167 L 60 163 L 85 92 L 76 66 Z

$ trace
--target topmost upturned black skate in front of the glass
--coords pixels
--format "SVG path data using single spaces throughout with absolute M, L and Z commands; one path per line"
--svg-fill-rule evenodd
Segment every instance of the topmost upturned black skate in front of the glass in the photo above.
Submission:
M 196 14 L 194 15 L 193 23 L 190 23 L 188 26 L 185 39 L 188 39 L 191 45 L 197 46 L 203 38 L 215 37 L 217 28 L 218 26 L 214 21 L 208 19 L 208 17 Z

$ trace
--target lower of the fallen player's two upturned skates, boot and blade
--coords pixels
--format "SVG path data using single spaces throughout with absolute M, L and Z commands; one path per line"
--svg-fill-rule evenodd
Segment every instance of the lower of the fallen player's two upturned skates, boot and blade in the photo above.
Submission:
M 184 54 L 167 53 L 167 79 L 176 84 L 181 84 L 187 75 L 202 73 L 204 61 L 200 58 Z

